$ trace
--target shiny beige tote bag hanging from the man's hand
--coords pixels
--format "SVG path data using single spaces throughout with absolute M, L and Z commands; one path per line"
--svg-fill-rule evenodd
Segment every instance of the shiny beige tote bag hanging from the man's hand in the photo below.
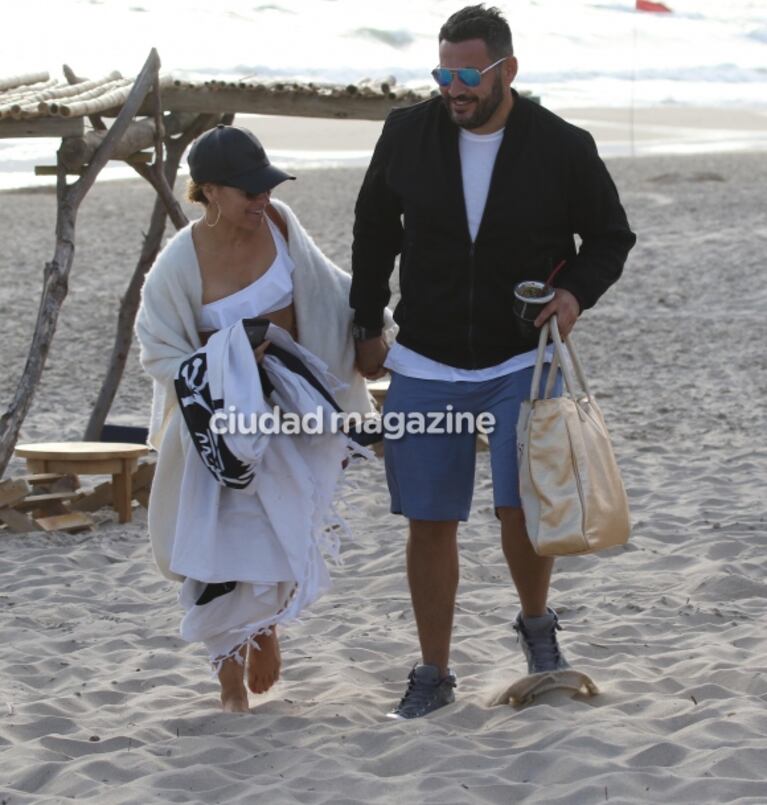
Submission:
M 549 331 L 554 360 L 539 398 Z M 565 393 L 551 397 L 558 365 Z M 530 399 L 519 412 L 517 447 L 522 509 L 536 553 L 591 553 L 628 540 L 628 500 L 602 412 L 572 339 L 562 343 L 555 317 L 541 328 Z

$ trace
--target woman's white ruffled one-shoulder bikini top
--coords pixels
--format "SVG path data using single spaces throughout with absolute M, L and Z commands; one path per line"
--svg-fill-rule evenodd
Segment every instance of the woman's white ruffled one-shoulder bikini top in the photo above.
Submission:
M 288 244 L 277 226 L 264 216 L 277 250 L 274 261 L 256 280 L 229 296 L 208 302 L 200 308 L 201 331 L 221 330 L 240 319 L 263 316 L 272 310 L 287 307 L 293 301 L 293 269 L 295 263 L 288 254 Z

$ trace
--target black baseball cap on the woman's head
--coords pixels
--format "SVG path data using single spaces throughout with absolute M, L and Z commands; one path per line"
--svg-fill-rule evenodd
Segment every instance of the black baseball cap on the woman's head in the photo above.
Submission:
M 187 158 L 197 184 L 212 182 L 258 195 L 295 176 L 275 168 L 252 131 L 219 123 L 201 134 Z

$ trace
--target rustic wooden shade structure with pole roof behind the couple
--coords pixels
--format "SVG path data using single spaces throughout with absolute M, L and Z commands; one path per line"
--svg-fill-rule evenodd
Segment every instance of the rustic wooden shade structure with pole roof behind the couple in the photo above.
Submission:
M 56 247 L 46 264 L 42 298 L 24 371 L 0 417 L 0 475 L 8 465 L 31 407 L 67 294 L 75 254 L 80 203 L 110 159 L 124 160 L 154 188 L 155 205 L 138 262 L 117 315 L 109 365 L 83 439 L 100 438 L 131 346 L 144 276 L 160 251 L 167 218 L 187 223 L 173 186 L 184 151 L 203 131 L 231 123 L 237 113 L 383 120 L 394 106 L 424 100 L 429 93 L 396 87 L 394 79 L 347 86 L 293 82 L 193 83 L 160 76 L 152 50 L 135 79 L 113 72 L 86 80 L 64 67 L 64 79 L 39 72 L 0 78 L 0 138 L 60 137 Z M 105 119 L 113 118 L 110 126 Z M 154 152 L 147 164 L 146 149 Z M 69 182 L 68 175 L 76 175 Z

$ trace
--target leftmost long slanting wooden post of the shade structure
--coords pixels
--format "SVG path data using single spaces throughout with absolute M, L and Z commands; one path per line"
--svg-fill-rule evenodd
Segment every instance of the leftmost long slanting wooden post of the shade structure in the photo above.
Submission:
M 86 193 L 96 181 L 99 172 L 109 160 L 115 143 L 122 137 L 128 123 L 143 103 L 152 86 L 153 76 L 157 73 L 159 63 L 157 51 L 152 49 L 136 78 L 136 83 L 125 106 L 83 176 L 74 184 L 67 185 L 66 169 L 63 165 L 59 165 L 56 183 L 56 249 L 53 259 L 45 266 L 40 307 L 26 365 L 10 405 L 0 417 L 0 475 L 8 466 L 19 431 L 32 405 L 35 390 L 40 382 L 56 331 L 61 305 L 67 294 L 69 273 L 74 261 L 77 211 Z

